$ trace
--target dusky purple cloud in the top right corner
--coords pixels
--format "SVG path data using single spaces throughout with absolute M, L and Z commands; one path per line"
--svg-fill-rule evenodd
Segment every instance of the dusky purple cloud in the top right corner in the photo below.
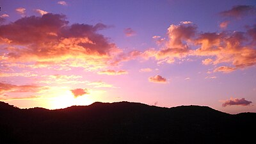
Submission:
M 255 15 L 256 14 L 256 7 L 255 6 L 248 6 L 248 5 L 238 5 L 233 6 L 232 9 L 221 12 L 220 15 L 223 17 L 236 17 L 241 18 L 245 15 Z

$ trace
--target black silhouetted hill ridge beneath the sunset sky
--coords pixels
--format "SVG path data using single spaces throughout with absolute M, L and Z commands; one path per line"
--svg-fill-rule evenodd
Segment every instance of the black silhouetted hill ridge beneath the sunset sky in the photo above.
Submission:
M 95 102 L 49 110 L 0 102 L 0 143 L 245 144 L 255 143 L 255 122 L 256 113 L 230 115 L 205 106 Z

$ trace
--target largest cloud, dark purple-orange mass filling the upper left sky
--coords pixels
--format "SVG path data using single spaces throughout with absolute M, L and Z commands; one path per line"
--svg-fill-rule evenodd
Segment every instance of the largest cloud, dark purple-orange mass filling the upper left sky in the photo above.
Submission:
M 0 44 L 9 63 L 35 63 L 65 67 L 106 67 L 120 52 L 109 39 L 97 33 L 104 24 L 68 25 L 65 15 L 47 13 L 22 17 L 0 26 Z M 1 55 L 0 55 L 1 56 Z

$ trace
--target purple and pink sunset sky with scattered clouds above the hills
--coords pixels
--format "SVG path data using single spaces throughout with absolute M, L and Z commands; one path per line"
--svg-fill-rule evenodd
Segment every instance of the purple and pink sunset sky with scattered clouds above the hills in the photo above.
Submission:
M 256 112 L 256 1 L 0 1 L 0 100 Z

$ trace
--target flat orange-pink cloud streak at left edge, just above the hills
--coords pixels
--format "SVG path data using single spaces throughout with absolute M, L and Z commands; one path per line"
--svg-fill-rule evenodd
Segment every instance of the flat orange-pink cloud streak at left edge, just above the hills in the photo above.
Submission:
M 6 92 L 40 92 L 41 90 L 47 89 L 44 86 L 38 86 L 34 84 L 27 84 L 27 85 L 15 85 L 15 84 L 8 84 L 8 83 L 0 83 L 0 94 Z

